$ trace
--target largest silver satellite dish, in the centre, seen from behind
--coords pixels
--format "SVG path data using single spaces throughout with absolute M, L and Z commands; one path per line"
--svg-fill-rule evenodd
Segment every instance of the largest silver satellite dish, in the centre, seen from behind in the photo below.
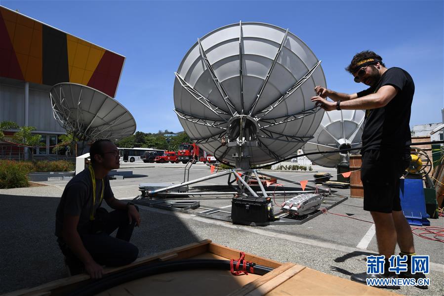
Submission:
M 321 123 L 324 112 L 310 101 L 316 85 L 326 86 L 320 63 L 304 42 L 277 26 L 224 26 L 183 58 L 174 111 L 190 138 L 218 158 L 236 163 L 235 147 L 221 144 L 236 132 L 231 126 L 246 122 L 257 133 L 257 145 L 248 147 L 250 165 L 280 161 L 295 154 Z M 241 124 L 233 125 L 240 115 Z

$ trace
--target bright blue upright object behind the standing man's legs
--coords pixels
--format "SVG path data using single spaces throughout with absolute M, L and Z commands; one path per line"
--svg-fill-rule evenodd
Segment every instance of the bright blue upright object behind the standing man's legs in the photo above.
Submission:
M 421 179 L 401 179 L 401 207 L 408 224 L 429 226 L 430 218 L 426 210 L 424 187 Z

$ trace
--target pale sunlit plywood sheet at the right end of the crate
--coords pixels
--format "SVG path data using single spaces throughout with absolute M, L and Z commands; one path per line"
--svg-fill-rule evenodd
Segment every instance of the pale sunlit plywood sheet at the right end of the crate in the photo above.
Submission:
M 301 272 L 283 282 L 281 285 L 270 291 L 267 296 L 319 296 L 319 295 L 336 295 L 336 296 L 378 296 L 378 295 L 398 295 L 385 289 L 378 289 L 364 284 L 356 283 L 325 274 L 323 272 L 305 268 Z

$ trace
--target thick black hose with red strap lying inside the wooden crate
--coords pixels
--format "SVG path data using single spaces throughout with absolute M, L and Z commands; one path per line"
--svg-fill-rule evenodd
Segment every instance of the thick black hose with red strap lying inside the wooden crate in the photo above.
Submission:
M 234 265 L 237 261 L 233 262 Z M 242 266 L 242 264 L 241 264 Z M 258 265 L 252 263 L 254 274 L 264 275 L 274 268 Z M 192 270 L 192 269 L 217 269 L 217 270 L 230 270 L 230 260 L 216 260 L 216 259 L 189 259 L 189 260 L 178 260 L 178 261 L 167 261 L 150 265 L 143 265 L 131 268 L 129 270 L 123 270 L 117 273 L 106 275 L 102 279 L 94 280 L 85 286 L 78 288 L 68 296 L 77 295 L 95 295 L 105 290 L 111 289 L 128 281 L 137 280 L 143 277 L 182 270 Z M 250 264 L 247 263 L 246 270 L 249 272 Z

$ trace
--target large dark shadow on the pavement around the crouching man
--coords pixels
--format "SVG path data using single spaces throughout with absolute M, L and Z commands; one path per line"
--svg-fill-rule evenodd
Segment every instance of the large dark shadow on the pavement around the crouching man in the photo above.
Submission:
M 54 235 L 59 201 L 55 197 L 0 195 L 0 294 L 68 276 Z M 106 203 L 102 205 L 108 208 Z M 200 240 L 174 215 L 143 209 L 140 215 L 141 226 L 131 238 L 139 248 L 139 257 Z

